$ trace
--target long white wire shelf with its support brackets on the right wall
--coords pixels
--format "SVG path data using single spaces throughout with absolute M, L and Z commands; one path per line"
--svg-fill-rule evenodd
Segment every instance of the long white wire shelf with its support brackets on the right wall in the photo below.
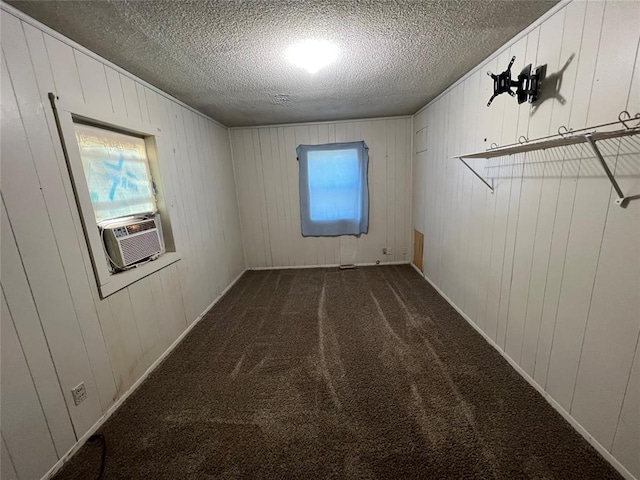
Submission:
M 629 121 L 636 121 L 638 123 L 634 126 L 629 126 L 629 124 L 627 123 Z M 596 131 L 596 129 L 598 128 L 611 127 L 613 125 L 620 125 L 620 124 L 622 124 L 622 128 L 618 128 L 617 130 L 605 131 L 605 132 Z M 607 175 L 607 178 L 611 182 L 611 185 L 613 186 L 613 189 L 615 190 L 616 195 L 618 196 L 618 198 L 616 198 L 615 200 L 616 205 L 619 205 L 620 207 L 625 208 L 632 197 L 625 196 L 624 193 L 622 192 L 622 189 L 620 188 L 618 181 L 616 180 L 614 174 L 611 172 L 611 169 L 607 165 L 607 162 L 602 156 L 602 153 L 600 152 L 600 149 L 598 148 L 598 145 L 596 142 L 598 142 L 599 140 L 627 137 L 627 136 L 639 135 L 639 134 L 640 134 L 640 114 L 636 114 L 634 117 L 631 117 L 631 115 L 629 115 L 627 111 L 622 111 L 620 112 L 620 115 L 618 115 L 618 121 L 616 122 L 606 123 L 603 125 L 599 125 L 597 127 L 584 128 L 576 131 L 569 130 L 563 126 L 558 129 L 557 135 L 550 135 L 548 137 L 543 137 L 537 140 L 527 140 L 527 139 L 521 138 L 518 141 L 518 143 L 513 143 L 511 145 L 506 145 L 503 147 L 491 148 L 484 152 L 475 152 L 475 153 L 468 153 L 464 155 L 457 155 L 453 158 L 457 158 L 458 160 L 460 160 L 464 164 L 464 166 L 467 167 L 469 170 L 471 170 L 471 172 L 476 177 L 478 177 L 482 181 L 482 183 L 484 183 L 489 188 L 489 190 L 491 190 L 491 193 L 493 193 L 495 189 L 493 184 L 493 179 L 491 179 L 491 183 L 489 183 L 482 175 L 480 175 L 476 170 L 474 170 L 474 168 L 471 167 L 471 165 L 469 165 L 469 163 L 467 163 L 465 159 L 466 160 L 470 160 L 474 158 L 490 159 L 490 158 L 496 158 L 496 157 L 504 157 L 508 155 L 515 155 L 517 153 L 532 152 L 536 150 L 545 150 L 547 148 L 563 147 L 567 145 L 578 145 L 578 144 L 586 143 L 593 150 L 593 153 L 595 154 L 596 158 L 600 162 L 600 165 L 602 166 L 604 173 Z M 637 198 L 637 197 L 634 196 L 633 198 Z

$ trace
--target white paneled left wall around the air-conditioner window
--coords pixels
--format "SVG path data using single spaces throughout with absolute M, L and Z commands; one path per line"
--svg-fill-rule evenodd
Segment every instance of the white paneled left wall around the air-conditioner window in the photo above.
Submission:
M 6 8 L 6 10 L 5 10 Z M 2 478 L 37 479 L 245 269 L 226 128 L 2 10 Z M 100 300 L 48 92 L 162 127 L 182 259 Z M 88 398 L 75 407 L 71 389 Z

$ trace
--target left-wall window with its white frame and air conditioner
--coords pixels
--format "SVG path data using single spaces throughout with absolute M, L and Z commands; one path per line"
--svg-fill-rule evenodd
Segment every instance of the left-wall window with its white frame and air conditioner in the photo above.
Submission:
M 160 168 L 160 155 L 170 158 L 161 129 L 54 93 L 49 100 L 100 297 L 180 260 Z

